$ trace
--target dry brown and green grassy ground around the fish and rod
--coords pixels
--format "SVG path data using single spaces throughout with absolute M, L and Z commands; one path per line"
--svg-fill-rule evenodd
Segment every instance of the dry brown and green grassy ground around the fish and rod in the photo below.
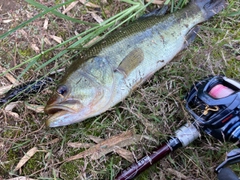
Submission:
M 38 13 L 32 6 L 23 1 L 19 2 L 20 4 L 12 2 L 11 6 L 2 6 L 4 11 L 1 13 L 1 33 Z M 54 1 L 39 2 L 47 6 L 54 4 Z M 68 127 L 46 128 L 44 126 L 46 115 L 30 110 L 26 102 L 44 105 L 51 88 L 29 97 L 25 102 L 17 103 L 10 112 L 2 108 L 0 179 L 18 176 L 34 179 L 112 179 L 120 170 L 130 165 L 115 152 L 98 160 L 86 157 L 60 163 L 85 149 L 73 148 L 69 143 L 93 143 L 91 136 L 107 139 L 133 129 L 136 134 L 147 138 L 142 138 L 138 143 L 125 149 L 129 150 L 134 158 L 151 153 L 182 124 L 191 121 L 183 108 L 183 98 L 193 82 L 209 74 L 225 74 L 240 79 L 239 16 L 228 16 L 232 11 L 239 11 L 240 4 L 234 0 L 230 0 L 229 4 L 224 12 L 202 24 L 199 37 L 188 49 L 157 72 L 130 97 L 96 118 Z M 79 10 L 81 8 L 79 4 L 69 13 L 74 17 L 81 17 L 82 20 L 94 22 L 89 13 L 81 15 Z M 121 8 L 125 8 L 125 5 L 112 3 L 109 10 L 106 10 L 107 17 Z M 44 30 L 42 27 L 46 19 L 49 19 L 49 24 L 48 29 Z M 11 21 L 3 23 L 3 20 Z M 50 44 L 45 43 L 44 47 L 48 48 L 57 44 L 50 35 L 67 39 L 75 30 L 83 31 L 85 28 L 86 26 L 74 25 L 53 15 L 46 15 L 0 42 L 0 65 L 7 69 L 37 54 L 38 49 L 34 47 L 41 49 L 41 37 L 49 40 Z M 52 57 L 54 53 L 56 52 L 47 54 L 43 61 Z M 51 64 L 47 68 L 57 65 Z M 12 74 L 17 77 L 21 71 L 22 69 L 16 69 Z M 23 79 L 27 81 L 37 76 L 38 74 L 30 70 Z M 6 77 L 0 77 L 0 83 L 1 86 L 11 84 Z M 14 172 L 17 163 L 33 147 L 38 151 Z M 180 179 L 177 173 L 188 180 L 215 179 L 214 168 L 224 160 L 225 152 L 233 147 L 232 144 L 220 143 L 203 134 L 190 146 L 177 150 L 144 172 L 138 179 Z M 238 165 L 233 168 L 239 172 Z

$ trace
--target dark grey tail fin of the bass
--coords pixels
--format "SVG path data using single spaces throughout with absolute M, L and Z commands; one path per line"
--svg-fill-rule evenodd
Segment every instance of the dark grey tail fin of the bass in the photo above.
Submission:
M 206 19 L 211 18 L 227 6 L 226 0 L 193 0 L 204 13 Z

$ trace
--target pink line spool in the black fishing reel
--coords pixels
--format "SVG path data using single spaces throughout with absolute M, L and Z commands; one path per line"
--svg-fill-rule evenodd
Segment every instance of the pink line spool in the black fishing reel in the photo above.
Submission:
M 210 91 L 209 94 L 214 98 L 223 98 L 227 97 L 230 94 L 234 93 L 234 91 L 222 84 L 218 84 L 214 86 Z

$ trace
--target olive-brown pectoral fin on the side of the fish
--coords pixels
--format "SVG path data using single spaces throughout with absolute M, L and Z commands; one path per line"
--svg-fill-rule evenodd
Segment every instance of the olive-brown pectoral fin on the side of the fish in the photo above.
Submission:
M 116 72 L 120 72 L 127 77 L 144 59 L 144 53 L 141 48 L 132 50 L 119 64 Z

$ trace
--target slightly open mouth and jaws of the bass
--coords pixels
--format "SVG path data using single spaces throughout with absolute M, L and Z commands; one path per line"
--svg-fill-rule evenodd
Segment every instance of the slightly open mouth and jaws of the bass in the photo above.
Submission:
M 72 121 L 79 117 L 82 108 L 82 104 L 77 100 L 47 105 L 44 109 L 44 112 L 49 115 L 46 126 L 58 127 L 71 124 Z

